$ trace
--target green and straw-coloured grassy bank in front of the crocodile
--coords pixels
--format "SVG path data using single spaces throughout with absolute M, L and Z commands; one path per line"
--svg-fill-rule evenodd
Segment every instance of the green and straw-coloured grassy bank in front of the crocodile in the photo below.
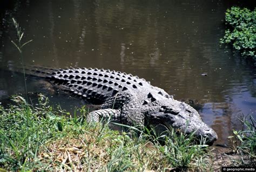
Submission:
M 35 106 L 21 97 L 14 99 L 17 105 L 0 107 L 0 171 L 205 170 L 211 166 L 207 147 L 194 145 L 192 134 L 169 131 L 168 137 L 157 137 L 145 128 L 131 137 L 132 132 L 110 130 L 107 123 L 87 124 L 83 108 L 77 109 L 82 116 L 71 118 L 60 107 L 49 106 L 42 95 Z

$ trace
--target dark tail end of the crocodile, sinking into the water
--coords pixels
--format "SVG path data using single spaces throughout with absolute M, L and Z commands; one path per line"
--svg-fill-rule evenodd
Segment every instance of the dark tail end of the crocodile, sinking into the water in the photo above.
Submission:
M 57 69 L 47 68 L 47 67 L 39 67 L 39 66 L 24 66 L 24 68 L 17 67 L 14 69 L 14 71 L 18 72 L 18 73 L 25 72 L 25 75 L 30 75 L 30 76 L 34 76 L 34 77 L 47 78 L 54 71 L 57 71 Z

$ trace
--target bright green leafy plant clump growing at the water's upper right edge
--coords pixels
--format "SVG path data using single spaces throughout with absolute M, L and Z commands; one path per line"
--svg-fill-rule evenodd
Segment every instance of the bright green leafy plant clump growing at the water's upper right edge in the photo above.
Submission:
M 233 6 L 226 11 L 225 20 L 230 28 L 220 39 L 221 44 L 232 44 L 242 56 L 256 61 L 256 9 L 251 11 Z

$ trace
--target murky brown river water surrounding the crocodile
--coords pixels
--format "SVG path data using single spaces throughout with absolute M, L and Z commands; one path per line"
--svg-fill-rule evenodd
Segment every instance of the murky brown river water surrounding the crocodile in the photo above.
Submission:
M 3 4 L 2 68 L 20 66 L 12 17 L 24 28 L 25 64 L 53 68 L 97 67 L 125 71 L 151 81 L 176 99 L 197 99 L 203 120 L 227 143 L 241 128 L 242 114 L 256 118 L 256 69 L 219 46 L 224 15 L 253 1 L 17 1 Z M 0 100 L 24 93 L 22 75 L 0 69 Z M 203 74 L 203 75 L 202 75 Z M 207 76 L 205 76 L 205 74 Z M 29 91 L 45 92 L 63 109 L 83 102 L 58 94 L 43 81 Z

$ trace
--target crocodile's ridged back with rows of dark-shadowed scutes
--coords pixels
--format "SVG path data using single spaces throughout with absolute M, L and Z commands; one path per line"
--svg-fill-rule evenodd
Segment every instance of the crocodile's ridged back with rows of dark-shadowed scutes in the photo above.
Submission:
M 103 104 L 106 99 L 118 93 L 129 92 L 139 96 L 145 92 L 145 88 L 153 88 L 143 78 L 109 69 L 59 69 L 53 71 L 47 78 L 57 87 L 83 97 L 93 104 Z

